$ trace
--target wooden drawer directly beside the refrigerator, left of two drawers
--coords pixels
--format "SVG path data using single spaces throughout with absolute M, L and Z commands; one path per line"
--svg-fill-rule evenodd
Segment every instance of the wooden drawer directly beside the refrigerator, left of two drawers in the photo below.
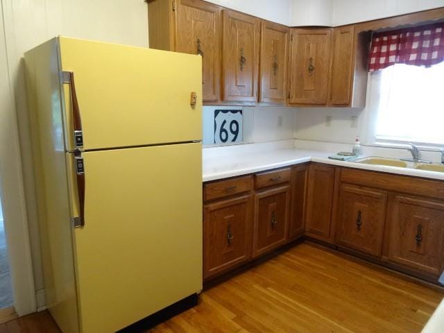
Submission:
M 210 182 L 204 185 L 203 198 L 205 201 L 208 201 L 244 193 L 251 189 L 253 189 L 253 176 L 220 180 L 219 182 Z

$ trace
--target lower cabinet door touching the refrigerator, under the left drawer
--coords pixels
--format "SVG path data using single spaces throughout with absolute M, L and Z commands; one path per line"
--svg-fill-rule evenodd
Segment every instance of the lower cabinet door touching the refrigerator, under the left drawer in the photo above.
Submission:
M 204 279 L 246 262 L 251 257 L 253 196 L 204 207 Z

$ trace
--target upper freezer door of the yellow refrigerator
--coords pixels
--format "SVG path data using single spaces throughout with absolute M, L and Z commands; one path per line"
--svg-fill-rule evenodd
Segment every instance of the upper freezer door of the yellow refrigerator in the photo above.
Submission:
M 85 150 L 202 138 L 202 59 L 58 37 L 60 70 L 73 72 Z M 65 142 L 74 149 L 69 85 L 63 84 Z M 191 93 L 197 103 L 190 105 Z

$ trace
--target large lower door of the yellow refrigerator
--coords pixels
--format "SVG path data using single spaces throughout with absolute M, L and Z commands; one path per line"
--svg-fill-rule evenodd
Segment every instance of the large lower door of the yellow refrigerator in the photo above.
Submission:
M 115 332 L 200 291 L 201 144 L 92 151 L 83 162 L 81 332 Z

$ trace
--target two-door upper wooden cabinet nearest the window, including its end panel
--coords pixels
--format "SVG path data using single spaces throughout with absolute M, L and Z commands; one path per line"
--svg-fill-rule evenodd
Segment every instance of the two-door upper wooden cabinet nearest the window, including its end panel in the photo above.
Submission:
M 288 103 L 364 108 L 370 35 L 355 26 L 291 30 Z

